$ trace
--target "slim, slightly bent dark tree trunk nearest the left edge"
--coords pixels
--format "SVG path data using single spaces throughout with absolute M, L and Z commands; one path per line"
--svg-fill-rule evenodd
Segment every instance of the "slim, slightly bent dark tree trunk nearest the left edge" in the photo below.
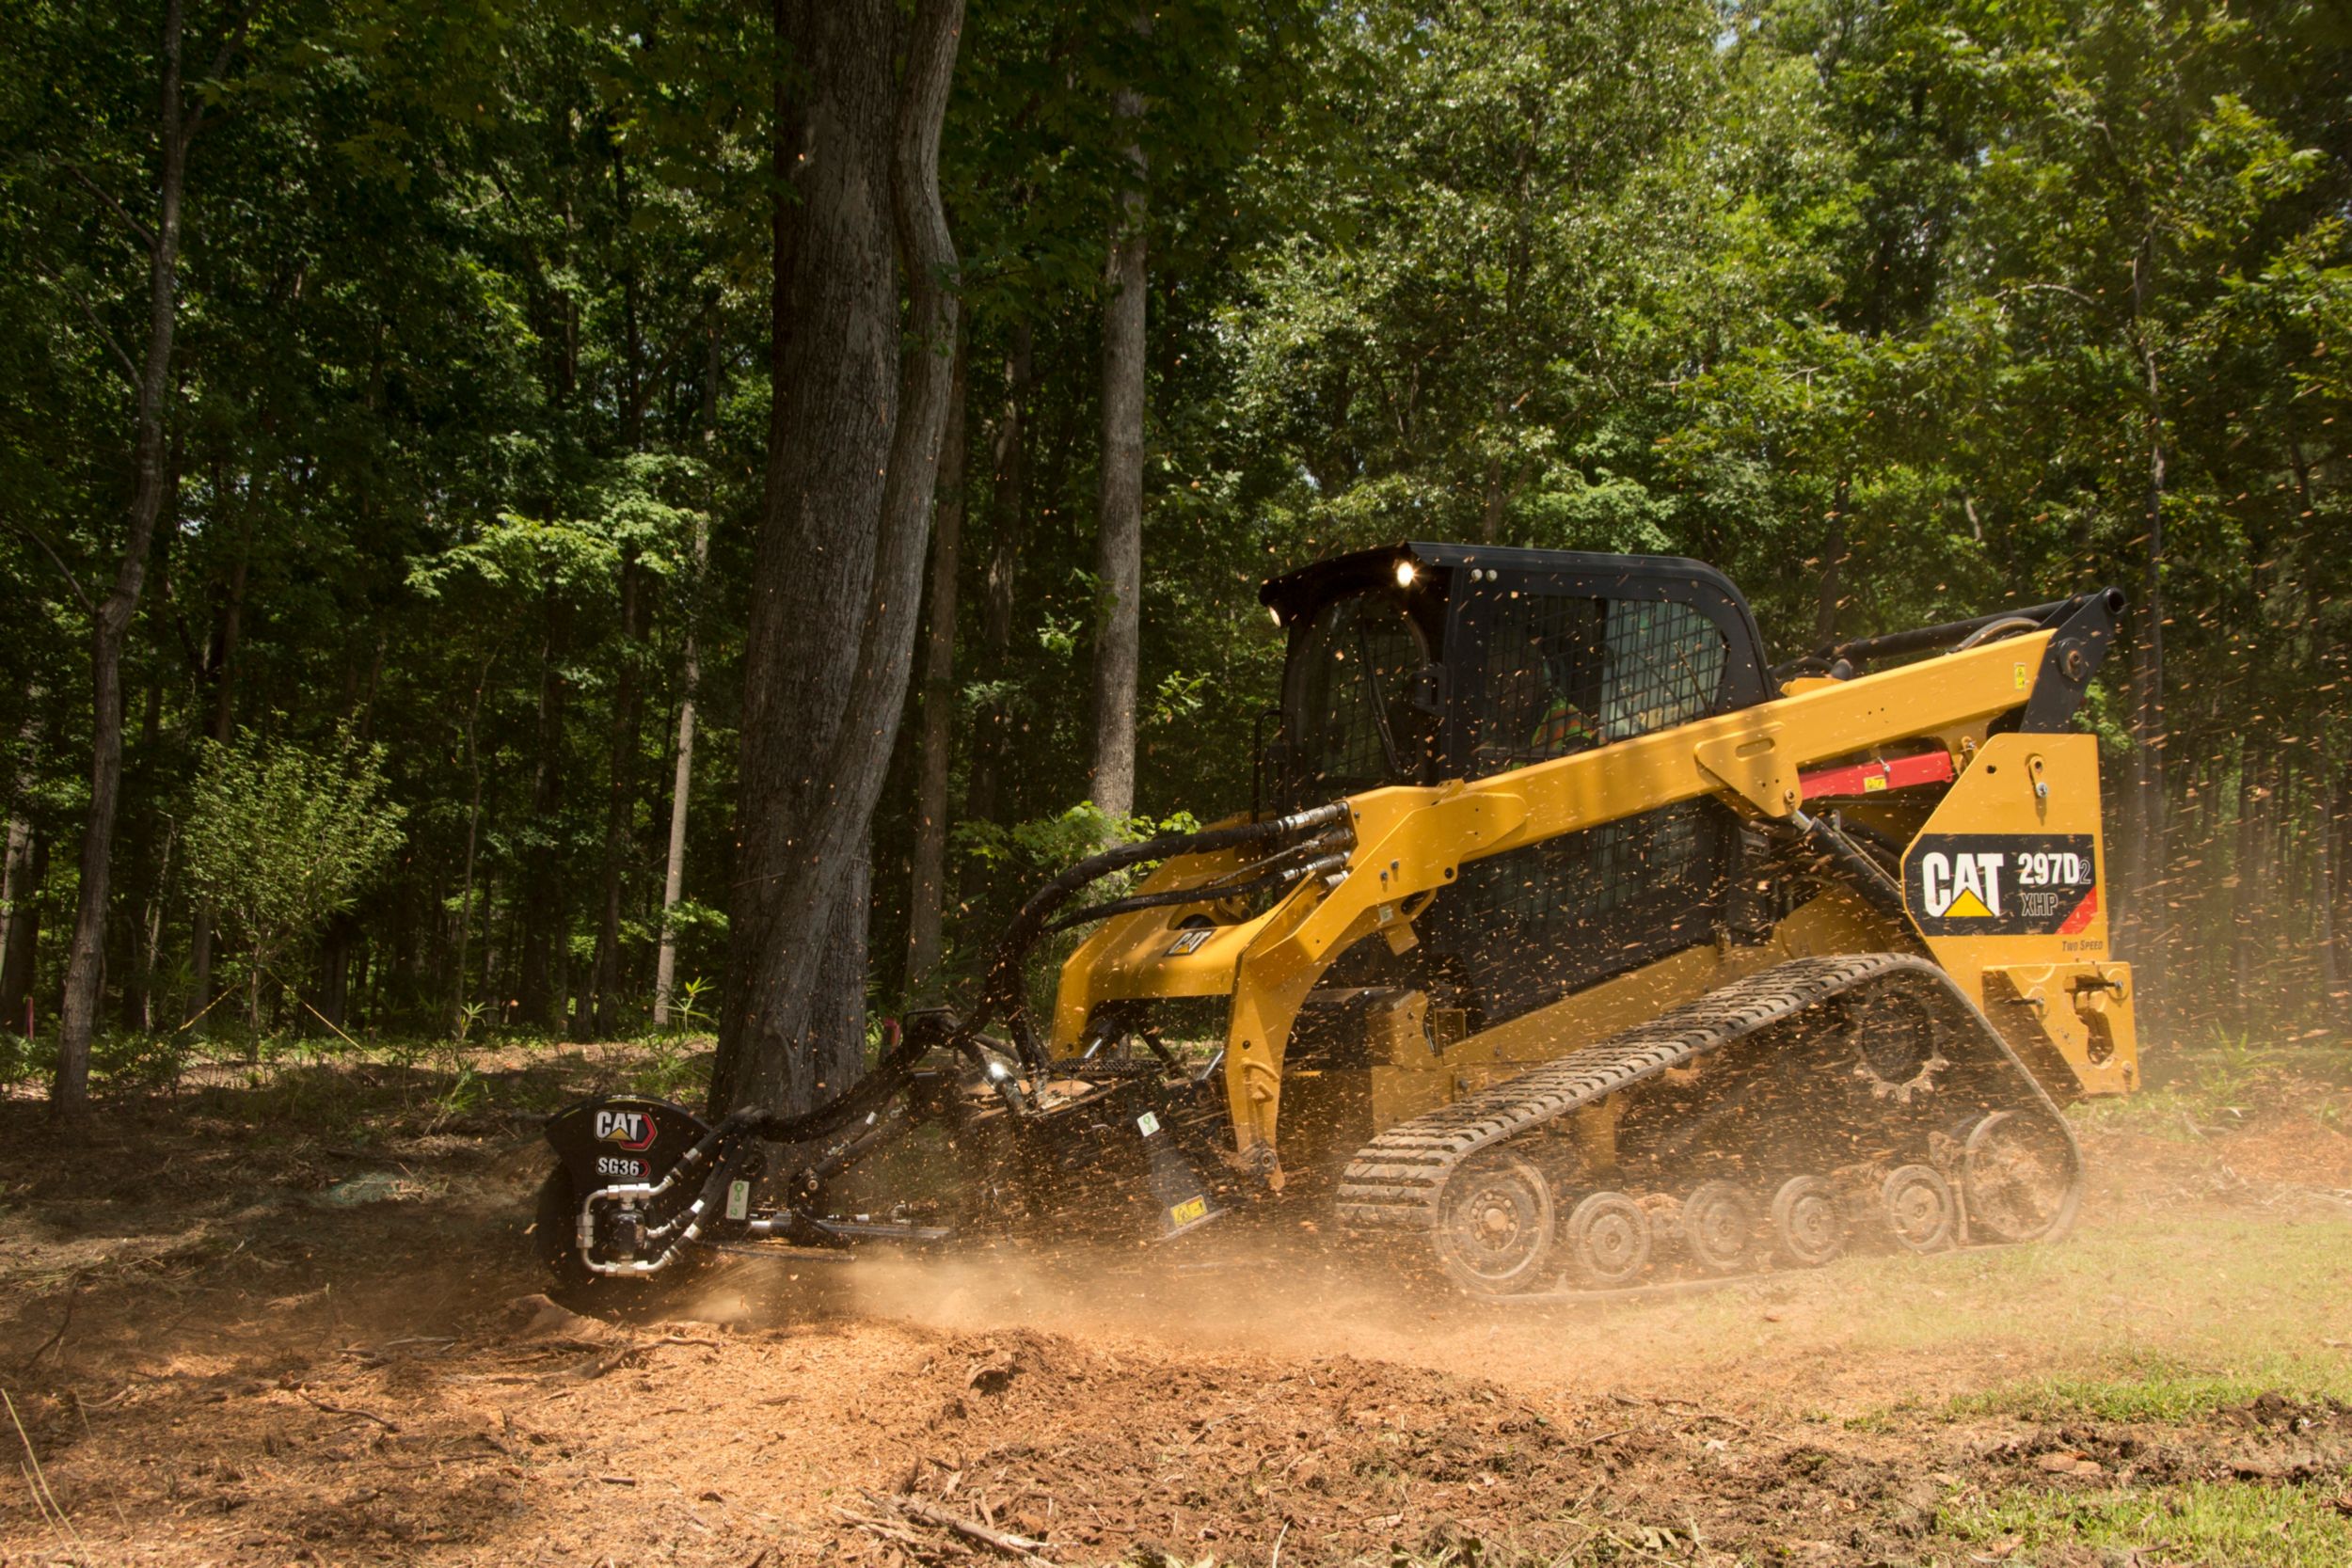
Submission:
M 82 827 L 82 886 L 66 957 L 66 999 L 59 1009 L 54 1114 L 73 1117 L 89 1103 L 89 1037 L 99 1023 L 99 983 L 106 969 L 106 896 L 113 870 L 115 804 L 122 792 L 122 639 L 139 611 L 148 545 L 162 517 L 169 473 L 165 407 L 172 397 L 172 331 L 179 324 L 179 219 L 188 174 L 188 132 L 181 118 L 181 0 L 167 0 L 162 21 L 162 127 L 155 181 L 155 230 L 148 242 L 148 348 L 139 369 L 132 435 L 132 510 L 115 585 L 89 616 L 89 820 Z

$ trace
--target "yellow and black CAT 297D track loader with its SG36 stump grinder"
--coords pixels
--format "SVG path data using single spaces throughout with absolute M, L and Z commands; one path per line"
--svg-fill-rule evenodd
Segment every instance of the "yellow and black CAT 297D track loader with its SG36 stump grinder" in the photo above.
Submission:
M 2067 1229 L 2058 1100 L 2138 1074 L 2072 729 L 2119 592 L 1778 668 L 1686 559 L 1404 543 L 1261 597 L 1247 816 L 1058 875 L 811 1114 L 557 1112 L 548 1262 L 1270 1204 L 1519 1295 Z

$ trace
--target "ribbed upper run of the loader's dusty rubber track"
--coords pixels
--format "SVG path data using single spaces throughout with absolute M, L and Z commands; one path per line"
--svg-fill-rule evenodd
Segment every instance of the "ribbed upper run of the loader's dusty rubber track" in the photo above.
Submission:
M 1355 1229 L 1432 1232 L 1437 1227 L 1437 1194 L 1444 1192 L 1454 1171 L 1479 1150 L 1557 1121 L 1630 1084 L 1653 1079 L 1668 1067 L 1722 1051 L 1731 1041 L 1792 1018 L 1842 990 L 1903 971 L 1933 976 L 1945 990 L 1962 997 L 1943 969 L 1903 952 L 1858 952 L 1773 964 L 1658 1013 L 1623 1034 L 1611 1034 L 1534 1072 L 1522 1072 L 1475 1095 L 1399 1121 L 1348 1161 L 1336 1199 L 1338 1218 Z M 1966 1004 L 1966 997 L 1962 1001 Z M 2009 1056 L 2006 1041 L 1997 1034 L 1992 1039 Z M 2032 1079 L 2027 1077 L 2027 1081 Z

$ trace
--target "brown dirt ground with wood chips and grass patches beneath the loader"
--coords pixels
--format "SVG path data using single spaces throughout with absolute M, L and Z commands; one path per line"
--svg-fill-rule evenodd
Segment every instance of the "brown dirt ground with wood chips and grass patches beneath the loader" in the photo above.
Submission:
M 0 1563 L 2352 1563 L 2352 1138 L 2300 1110 L 2089 1119 L 2060 1246 L 1635 1305 L 1261 1227 L 579 1316 L 527 1114 L 318 1072 L 0 1103 Z

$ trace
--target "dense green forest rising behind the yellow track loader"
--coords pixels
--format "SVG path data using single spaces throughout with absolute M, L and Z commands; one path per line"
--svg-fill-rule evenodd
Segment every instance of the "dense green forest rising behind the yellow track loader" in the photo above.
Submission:
M 1776 654 L 2122 585 L 2143 1030 L 2352 1032 L 2340 7 L 957 12 L 21 7 L 0 1077 L 708 1030 L 826 724 L 873 809 L 795 1027 L 934 992 L 1056 856 L 1247 804 L 1256 583 L 1406 536 L 1693 555 Z M 868 223 L 863 357 L 844 165 L 953 237 Z M 894 454 L 795 524 L 842 367 L 936 505 Z M 779 677 L 844 628 L 894 679 Z

